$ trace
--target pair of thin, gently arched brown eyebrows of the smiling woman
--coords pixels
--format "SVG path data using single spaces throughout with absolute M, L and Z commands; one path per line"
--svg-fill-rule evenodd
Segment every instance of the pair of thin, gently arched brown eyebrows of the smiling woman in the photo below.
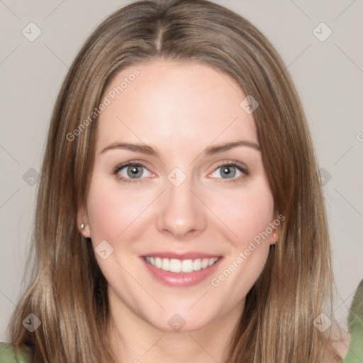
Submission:
M 232 143 L 224 143 L 220 145 L 208 146 L 206 147 L 206 149 L 203 150 L 203 154 L 215 155 L 220 152 L 228 151 L 230 149 L 233 149 L 234 147 L 240 147 L 240 146 L 252 147 L 255 150 L 261 151 L 261 147 L 257 143 L 253 143 L 252 141 L 247 141 L 247 140 L 237 140 L 233 141 Z M 131 143 L 113 143 L 105 147 L 101 151 L 101 154 L 103 154 L 108 150 L 115 150 L 115 149 L 130 150 L 133 152 L 140 152 L 142 154 L 160 157 L 157 150 L 155 150 L 153 147 L 149 145 L 140 145 L 140 144 L 131 144 Z

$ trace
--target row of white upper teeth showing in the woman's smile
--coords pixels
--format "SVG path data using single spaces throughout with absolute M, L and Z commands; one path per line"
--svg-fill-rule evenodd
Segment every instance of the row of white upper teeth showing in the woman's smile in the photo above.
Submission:
M 199 271 L 200 269 L 206 269 L 206 267 L 215 264 L 218 261 L 218 257 L 213 258 L 197 258 L 197 259 L 168 259 L 161 257 L 145 257 L 148 264 L 157 269 L 162 269 L 164 271 L 174 272 L 179 274 L 180 272 L 184 274 L 190 274 L 193 271 Z

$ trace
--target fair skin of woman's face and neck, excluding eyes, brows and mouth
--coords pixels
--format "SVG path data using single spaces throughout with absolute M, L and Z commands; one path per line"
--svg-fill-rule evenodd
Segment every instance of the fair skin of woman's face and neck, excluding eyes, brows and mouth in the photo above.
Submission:
M 156 60 L 123 69 L 105 95 L 135 67 L 140 75 L 97 121 L 91 186 L 86 206 L 79 210 L 82 234 L 94 247 L 102 240 L 113 247 L 106 259 L 96 254 L 108 281 L 113 347 L 122 362 L 223 362 L 245 296 L 279 231 L 262 240 L 219 286 L 212 286 L 211 278 L 277 213 L 259 150 L 238 146 L 215 155 L 203 155 L 203 150 L 236 140 L 258 144 L 253 114 L 240 107 L 246 95 L 232 78 L 197 62 Z M 150 145 L 159 157 L 121 148 L 101 152 L 121 142 Z M 136 160 L 145 164 L 136 179 L 140 183 L 113 174 L 118 164 Z M 236 181 L 227 179 L 220 163 L 230 161 L 242 163 L 250 173 L 236 170 Z M 180 186 L 167 179 L 175 167 L 186 176 Z M 127 178 L 127 170 L 118 176 Z M 140 259 L 161 251 L 204 252 L 223 260 L 213 276 L 196 286 L 166 286 Z M 175 313 L 186 322 L 179 332 L 168 324 Z

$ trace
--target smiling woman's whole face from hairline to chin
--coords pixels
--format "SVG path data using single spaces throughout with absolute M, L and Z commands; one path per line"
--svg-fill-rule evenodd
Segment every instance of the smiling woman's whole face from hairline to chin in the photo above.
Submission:
M 237 322 L 279 224 L 245 97 L 196 62 L 129 67 L 108 86 L 79 223 L 113 314 L 164 331 Z

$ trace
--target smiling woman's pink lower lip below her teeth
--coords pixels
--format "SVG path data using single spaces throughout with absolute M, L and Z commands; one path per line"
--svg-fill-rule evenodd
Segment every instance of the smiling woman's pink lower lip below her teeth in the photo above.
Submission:
M 148 264 L 143 257 L 143 260 L 146 268 L 150 271 L 153 277 L 158 281 L 162 282 L 167 286 L 194 286 L 199 284 L 201 281 L 206 279 L 208 276 L 211 276 L 213 272 L 216 272 L 222 257 L 219 257 L 218 261 L 212 264 L 211 266 L 206 267 L 205 269 L 200 269 L 199 271 L 189 272 L 189 273 L 174 273 L 170 271 L 164 271 L 163 269 L 157 269 L 152 264 Z

